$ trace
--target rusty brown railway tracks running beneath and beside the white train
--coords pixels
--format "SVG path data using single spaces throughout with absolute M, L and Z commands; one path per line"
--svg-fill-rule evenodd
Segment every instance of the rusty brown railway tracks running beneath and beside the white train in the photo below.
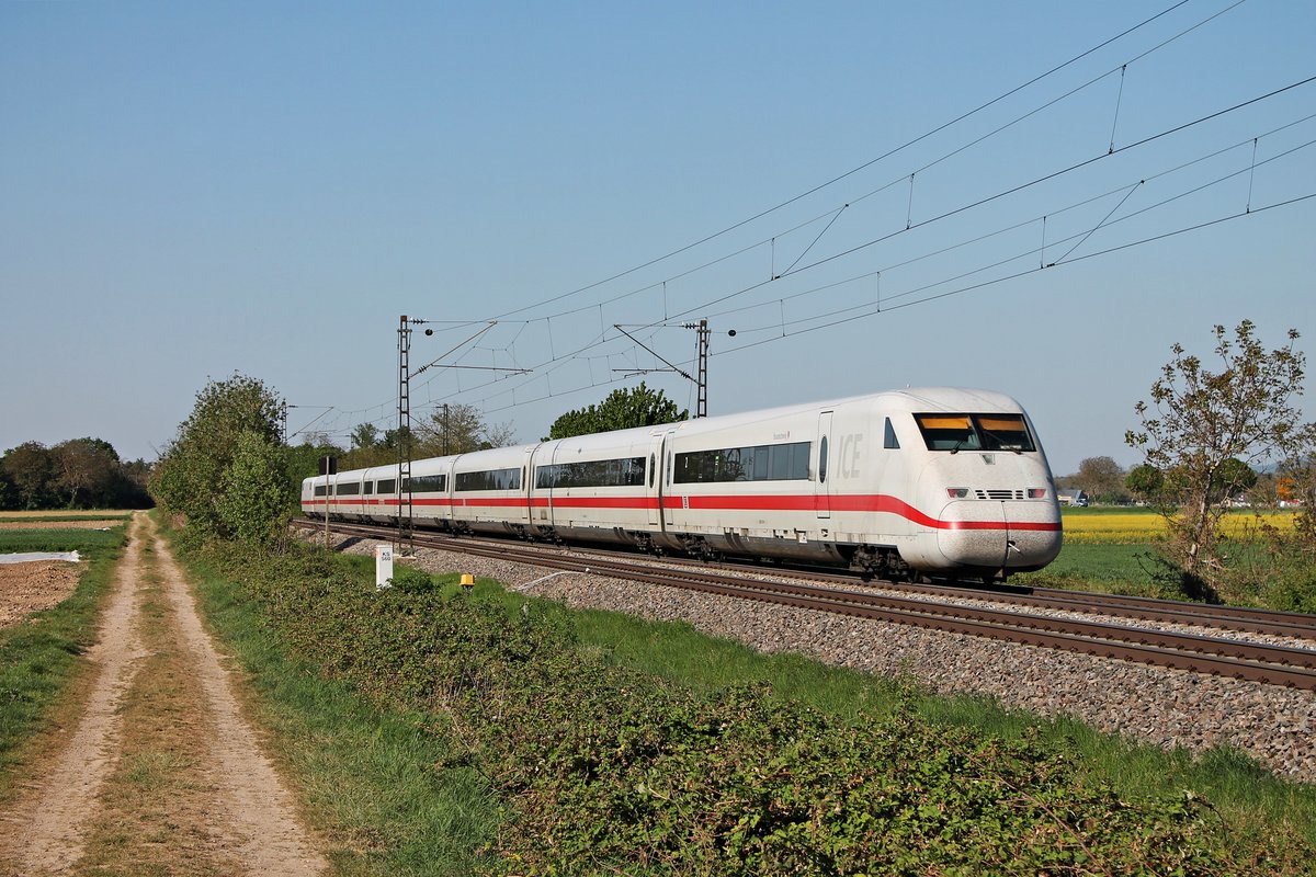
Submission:
M 309 521 L 299 523 L 316 527 L 315 522 Z M 365 538 L 391 539 L 396 535 L 391 527 L 343 523 L 332 526 L 338 534 Z M 429 533 L 417 534 L 416 544 L 562 571 L 588 572 L 741 600 L 1228 676 L 1267 685 L 1316 690 L 1316 618 L 1292 613 L 1265 613 L 1051 589 L 1028 593 L 1020 589 L 895 585 L 909 592 L 911 596 L 907 597 L 837 586 L 837 582 L 853 585 L 855 580 L 834 575 L 815 576 L 829 584 L 767 581 L 765 575 L 780 577 L 803 573 L 782 573 L 782 571 L 767 573 L 762 568 L 741 567 L 736 571 L 738 575 L 732 575 L 730 571 L 709 569 L 697 561 L 671 564 L 667 563 L 669 559 L 663 559 L 663 564 L 658 565 L 650 557 L 640 560 L 636 556 L 597 551 L 563 552 L 557 547 Z M 745 577 L 746 575 L 751 577 Z M 974 605 L 965 605 L 966 598 Z M 1009 607 L 976 605 L 980 601 Z M 1038 610 L 1065 614 L 1037 614 Z M 1302 646 L 1091 621 L 1074 618 L 1075 613 L 1216 627 L 1234 634 L 1286 636 L 1302 642 Z

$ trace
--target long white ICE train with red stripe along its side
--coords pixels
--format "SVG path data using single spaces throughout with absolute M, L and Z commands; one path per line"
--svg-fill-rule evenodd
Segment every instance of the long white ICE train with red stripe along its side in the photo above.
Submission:
M 903 389 L 307 479 L 309 517 L 654 552 L 1004 579 L 1061 548 L 1032 421 L 1000 393 Z

